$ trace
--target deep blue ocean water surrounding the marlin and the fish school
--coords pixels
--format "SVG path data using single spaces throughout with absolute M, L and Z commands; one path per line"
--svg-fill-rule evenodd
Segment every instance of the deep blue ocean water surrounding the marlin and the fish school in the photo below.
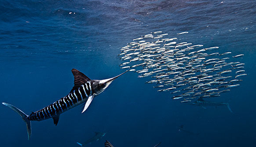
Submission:
M 72 13 L 70 13 L 72 12 Z M 88 110 L 76 107 L 53 120 L 25 123 L 0 106 L 1 147 L 78 147 L 108 133 L 88 147 L 253 147 L 256 143 L 256 3 L 255 0 L 1 0 L 1 102 L 26 114 L 66 96 L 73 87 L 72 68 L 91 79 L 114 77 L 124 70 L 120 47 L 154 31 L 193 44 L 218 46 L 221 52 L 244 54 L 247 77 L 240 87 L 216 101 L 227 107 L 194 107 L 159 93 L 150 78 L 129 72 L 94 98 Z M 179 131 L 199 133 L 191 135 Z

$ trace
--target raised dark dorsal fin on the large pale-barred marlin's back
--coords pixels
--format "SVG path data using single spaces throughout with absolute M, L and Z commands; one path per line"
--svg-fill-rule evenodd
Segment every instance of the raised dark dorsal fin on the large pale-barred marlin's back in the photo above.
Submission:
M 72 90 L 70 92 L 74 91 L 75 89 L 80 87 L 85 82 L 91 80 L 86 75 L 81 73 L 79 70 L 72 69 L 71 71 L 72 71 L 72 74 L 74 75 L 74 87 L 72 88 Z

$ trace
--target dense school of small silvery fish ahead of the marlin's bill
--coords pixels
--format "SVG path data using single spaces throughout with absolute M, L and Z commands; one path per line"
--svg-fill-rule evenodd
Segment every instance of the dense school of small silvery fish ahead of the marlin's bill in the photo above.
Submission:
M 184 35 L 189 32 L 177 33 Z M 178 42 L 177 37 L 157 31 L 149 33 L 122 47 L 118 55 L 122 69 L 152 77 L 158 91 L 168 91 L 173 99 L 191 102 L 204 97 L 219 97 L 238 87 L 246 76 L 244 63 L 234 61 L 243 54 L 231 56 L 219 47 L 204 48 L 201 44 Z M 235 76 L 234 76 L 235 75 Z

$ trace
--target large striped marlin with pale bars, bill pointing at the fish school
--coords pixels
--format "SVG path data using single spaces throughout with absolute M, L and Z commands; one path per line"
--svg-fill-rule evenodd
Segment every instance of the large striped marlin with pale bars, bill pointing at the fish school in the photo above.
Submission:
M 109 84 L 112 83 L 113 80 L 122 75 L 119 74 L 116 77 L 105 80 L 91 80 L 76 69 L 72 69 L 71 71 L 74 75 L 74 87 L 72 88 L 70 93 L 67 96 L 62 97 L 60 100 L 57 100 L 53 104 L 50 104 L 49 106 L 44 107 L 41 110 L 32 112 L 32 114 L 27 115 L 11 104 L 2 103 L 17 112 L 25 121 L 28 131 L 28 140 L 31 137 L 31 121 L 41 121 L 53 118 L 53 123 L 57 125 L 60 114 L 67 110 L 70 110 L 71 108 L 76 107 L 77 105 L 85 103 L 84 110 L 82 111 L 83 113 L 89 107 L 92 99 L 95 96 L 102 93 L 109 86 Z

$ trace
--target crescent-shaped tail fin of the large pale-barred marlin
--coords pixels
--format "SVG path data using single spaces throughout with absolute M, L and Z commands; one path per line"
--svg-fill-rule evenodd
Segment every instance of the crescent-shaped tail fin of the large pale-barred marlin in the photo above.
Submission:
M 2 103 L 3 105 L 11 108 L 12 110 L 14 110 L 15 112 L 17 112 L 21 118 L 25 121 L 26 125 L 27 125 L 27 131 L 28 131 L 28 140 L 30 139 L 31 137 L 31 122 L 30 120 L 27 119 L 28 115 L 25 114 L 24 112 L 22 112 L 21 110 L 19 110 L 18 108 L 14 107 L 13 105 L 11 104 L 7 104 L 7 103 Z

